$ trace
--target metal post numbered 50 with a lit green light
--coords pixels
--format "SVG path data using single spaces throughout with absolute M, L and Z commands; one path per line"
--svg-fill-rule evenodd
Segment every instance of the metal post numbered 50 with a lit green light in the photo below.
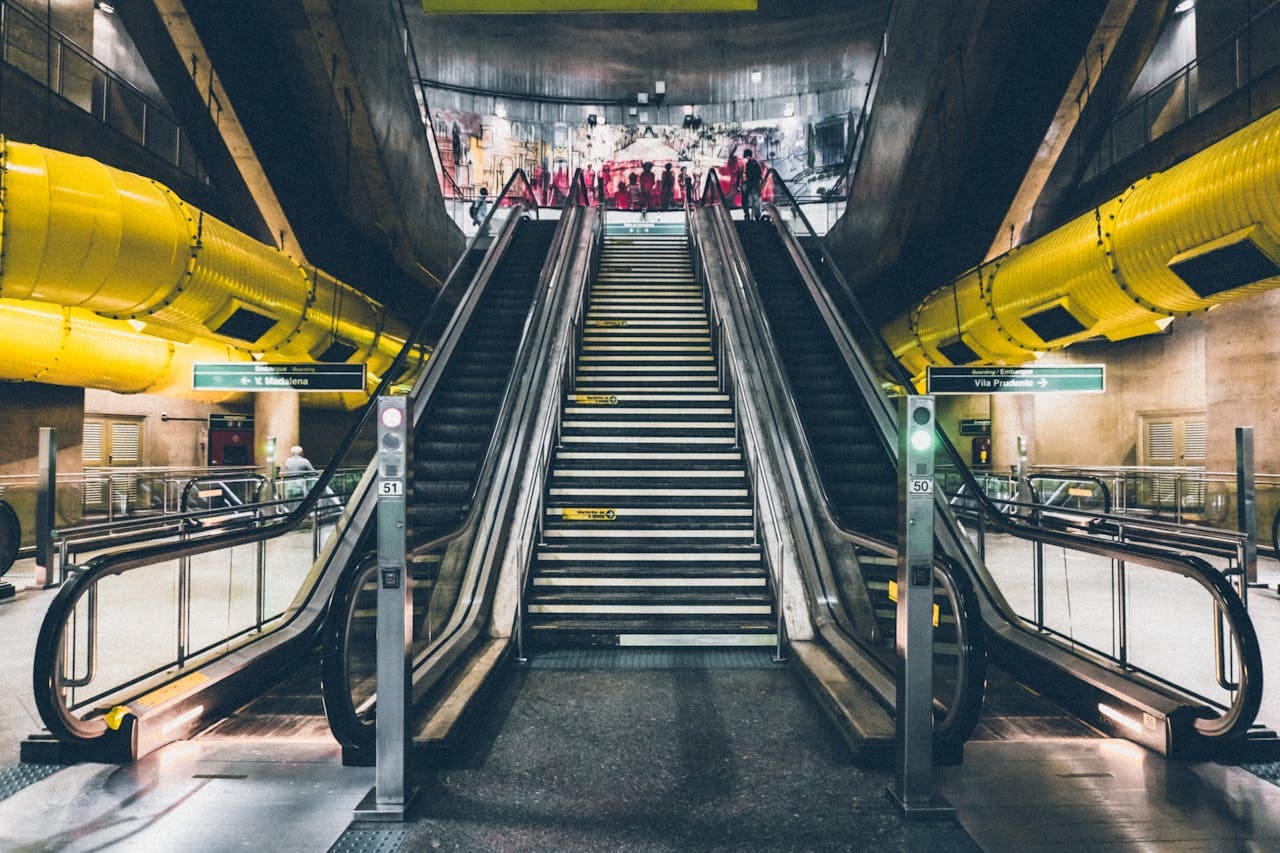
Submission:
M 906 818 L 948 818 L 933 793 L 932 396 L 902 402 L 899 430 L 897 776 L 888 798 Z

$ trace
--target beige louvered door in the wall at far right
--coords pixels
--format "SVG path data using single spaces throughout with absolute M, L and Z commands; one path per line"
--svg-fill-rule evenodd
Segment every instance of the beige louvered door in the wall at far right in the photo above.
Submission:
M 1139 505 L 1161 512 L 1202 512 L 1204 508 L 1204 412 L 1142 415 L 1139 452 L 1146 467 L 1175 467 L 1153 474 L 1139 485 Z M 1187 471 L 1184 469 L 1198 469 Z

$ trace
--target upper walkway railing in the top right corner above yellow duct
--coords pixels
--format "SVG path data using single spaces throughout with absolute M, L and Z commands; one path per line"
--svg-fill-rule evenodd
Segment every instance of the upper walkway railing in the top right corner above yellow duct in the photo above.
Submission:
M 1272 1 L 1217 46 L 1121 109 L 1103 133 L 1083 181 L 1101 175 L 1229 95 L 1252 87 L 1277 67 L 1280 3 Z M 1239 127 L 1254 118 L 1252 114 L 1243 115 Z

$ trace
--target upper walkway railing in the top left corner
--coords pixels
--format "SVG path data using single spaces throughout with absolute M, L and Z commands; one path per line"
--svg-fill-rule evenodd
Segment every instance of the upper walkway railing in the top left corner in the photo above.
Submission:
M 166 163 L 207 183 L 173 111 L 142 93 L 70 37 L 0 0 L 0 59 Z

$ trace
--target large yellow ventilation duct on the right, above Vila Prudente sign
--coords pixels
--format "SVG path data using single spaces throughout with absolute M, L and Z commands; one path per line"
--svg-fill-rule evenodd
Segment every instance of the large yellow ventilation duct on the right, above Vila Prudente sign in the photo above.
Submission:
M 1280 286 L 1280 110 L 934 291 L 882 333 L 897 359 L 1020 364 Z

